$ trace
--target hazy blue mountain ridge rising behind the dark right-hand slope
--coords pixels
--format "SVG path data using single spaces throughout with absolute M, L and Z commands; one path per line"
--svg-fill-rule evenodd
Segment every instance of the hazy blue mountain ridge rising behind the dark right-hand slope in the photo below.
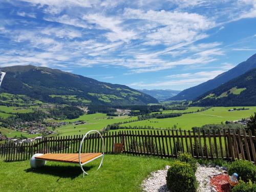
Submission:
M 215 89 L 221 86 L 221 84 L 233 78 L 236 78 L 253 68 L 256 68 L 256 54 L 252 55 L 246 61 L 239 63 L 239 65 L 230 69 L 229 71 L 226 71 L 218 75 L 214 79 L 203 82 L 198 86 L 185 89 L 182 92 L 180 92 L 178 95 L 171 97 L 167 100 L 184 100 L 184 99 L 194 100 L 200 95 L 204 94 L 205 92 Z

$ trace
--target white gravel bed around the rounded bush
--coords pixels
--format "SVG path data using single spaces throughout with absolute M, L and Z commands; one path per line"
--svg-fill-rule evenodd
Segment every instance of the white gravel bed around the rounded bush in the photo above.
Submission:
M 142 191 L 147 192 L 169 192 L 166 187 L 166 175 L 169 166 L 166 165 L 163 170 L 157 170 L 152 172 L 147 179 L 142 181 Z M 196 172 L 196 177 L 199 182 L 197 192 L 213 192 L 216 191 L 214 187 L 210 185 L 210 178 L 216 175 L 220 175 L 225 170 L 222 167 L 199 165 Z

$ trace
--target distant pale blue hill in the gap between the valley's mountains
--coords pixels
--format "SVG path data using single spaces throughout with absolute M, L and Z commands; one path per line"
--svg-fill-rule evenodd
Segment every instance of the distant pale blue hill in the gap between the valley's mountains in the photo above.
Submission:
M 138 90 L 142 93 L 145 93 L 147 95 L 150 95 L 152 97 L 155 97 L 159 101 L 164 101 L 170 97 L 173 97 L 180 93 L 181 91 L 176 91 L 176 90 L 159 90 L 159 89 L 154 89 L 154 90 Z

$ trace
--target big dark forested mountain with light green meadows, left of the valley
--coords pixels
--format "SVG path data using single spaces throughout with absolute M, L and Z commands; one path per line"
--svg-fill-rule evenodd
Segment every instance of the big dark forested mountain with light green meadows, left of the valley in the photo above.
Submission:
M 1 92 L 26 95 L 52 103 L 67 104 L 147 104 L 157 99 L 120 84 L 100 82 L 92 78 L 35 66 L 12 66 L 7 72 Z

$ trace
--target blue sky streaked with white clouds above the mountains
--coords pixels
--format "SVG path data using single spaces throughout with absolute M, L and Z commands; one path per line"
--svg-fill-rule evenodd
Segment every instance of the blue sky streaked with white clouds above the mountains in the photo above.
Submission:
M 256 0 L 0 0 L 0 66 L 183 90 L 256 53 Z

